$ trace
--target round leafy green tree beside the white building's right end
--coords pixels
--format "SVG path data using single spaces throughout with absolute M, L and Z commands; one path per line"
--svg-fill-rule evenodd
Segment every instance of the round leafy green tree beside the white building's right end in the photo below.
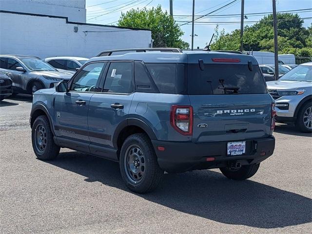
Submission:
M 141 10 L 131 9 L 121 13 L 118 26 L 150 29 L 154 39 L 153 47 L 177 47 L 188 49 L 189 43 L 180 39 L 184 35 L 176 21 L 167 11 L 163 12 L 161 6 Z

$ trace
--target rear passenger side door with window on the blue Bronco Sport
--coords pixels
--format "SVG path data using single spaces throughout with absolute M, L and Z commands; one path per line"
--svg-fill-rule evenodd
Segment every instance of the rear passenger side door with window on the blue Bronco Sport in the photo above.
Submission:
M 102 92 L 95 93 L 89 106 L 89 138 L 92 153 L 97 146 L 113 147 L 113 135 L 125 119 L 134 97 L 134 62 L 114 61 L 108 65 Z

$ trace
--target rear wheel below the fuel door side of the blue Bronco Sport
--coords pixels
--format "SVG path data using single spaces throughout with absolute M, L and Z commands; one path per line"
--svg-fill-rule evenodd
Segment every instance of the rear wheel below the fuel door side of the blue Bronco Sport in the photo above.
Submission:
M 156 189 L 164 175 L 153 145 L 144 133 L 133 134 L 124 141 L 119 167 L 125 184 L 136 193 L 148 193 Z

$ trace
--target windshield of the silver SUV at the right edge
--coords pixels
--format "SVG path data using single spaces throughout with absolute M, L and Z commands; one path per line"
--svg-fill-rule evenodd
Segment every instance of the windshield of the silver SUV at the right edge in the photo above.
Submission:
M 287 72 L 279 80 L 312 82 L 312 66 L 299 65 Z

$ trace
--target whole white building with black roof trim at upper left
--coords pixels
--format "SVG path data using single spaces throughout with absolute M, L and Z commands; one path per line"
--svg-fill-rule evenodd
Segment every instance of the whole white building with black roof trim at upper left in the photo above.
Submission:
M 149 30 L 86 23 L 85 0 L 0 0 L 0 54 L 93 57 L 151 40 Z

